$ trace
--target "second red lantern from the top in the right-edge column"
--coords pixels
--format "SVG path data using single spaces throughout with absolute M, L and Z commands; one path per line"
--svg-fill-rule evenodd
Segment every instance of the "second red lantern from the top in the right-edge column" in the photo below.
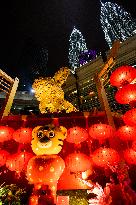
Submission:
M 116 92 L 115 99 L 120 104 L 130 104 L 136 101 L 136 84 L 124 85 Z

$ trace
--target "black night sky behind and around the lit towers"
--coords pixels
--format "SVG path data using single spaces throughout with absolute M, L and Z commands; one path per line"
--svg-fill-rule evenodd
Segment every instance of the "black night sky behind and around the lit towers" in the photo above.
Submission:
M 113 2 L 113 1 L 112 1 Z M 135 1 L 115 0 L 136 18 Z M 100 25 L 99 0 L 13 0 L 0 5 L 0 68 L 25 82 L 29 40 L 48 48 L 47 76 L 68 66 L 69 36 L 79 29 L 88 49 L 108 49 Z M 25 75 L 24 75 L 25 74 Z

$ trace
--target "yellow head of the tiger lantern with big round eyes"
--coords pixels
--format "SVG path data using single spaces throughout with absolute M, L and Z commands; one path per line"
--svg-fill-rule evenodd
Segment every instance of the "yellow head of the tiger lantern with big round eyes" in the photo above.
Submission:
M 67 129 L 53 125 L 37 126 L 32 131 L 32 150 L 36 155 L 58 154 L 67 136 Z

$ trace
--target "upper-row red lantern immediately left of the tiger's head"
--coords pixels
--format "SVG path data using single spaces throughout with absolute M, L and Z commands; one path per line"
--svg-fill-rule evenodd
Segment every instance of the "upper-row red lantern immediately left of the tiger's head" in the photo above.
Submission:
M 32 140 L 32 128 L 22 127 L 13 133 L 13 139 L 19 143 L 30 143 Z

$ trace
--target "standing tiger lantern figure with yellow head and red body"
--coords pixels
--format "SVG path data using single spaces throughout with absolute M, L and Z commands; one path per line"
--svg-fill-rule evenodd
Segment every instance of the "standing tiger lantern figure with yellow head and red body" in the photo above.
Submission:
M 47 189 L 50 190 L 54 204 L 57 182 L 65 168 L 64 160 L 57 154 L 61 151 L 66 136 L 65 127 L 52 124 L 37 126 L 32 131 L 31 147 L 37 156 L 28 162 L 27 179 L 30 184 L 34 184 L 36 191 L 41 190 L 46 193 Z M 44 197 L 46 201 L 49 196 L 46 194 Z

